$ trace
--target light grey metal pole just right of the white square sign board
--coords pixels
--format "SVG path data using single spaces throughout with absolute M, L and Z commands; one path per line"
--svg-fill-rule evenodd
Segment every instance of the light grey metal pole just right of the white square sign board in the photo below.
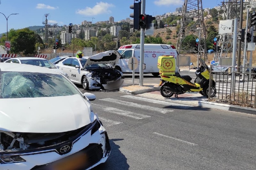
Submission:
M 234 19 L 234 34 L 233 34 L 233 52 L 232 52 L 232 80 L 231 80 L 231 92 L 235 90 L 235 66 L 236 66 L 236 42 L 237 42 L 237 18 Z M 239 68 L 239 67 L 237 67 Z

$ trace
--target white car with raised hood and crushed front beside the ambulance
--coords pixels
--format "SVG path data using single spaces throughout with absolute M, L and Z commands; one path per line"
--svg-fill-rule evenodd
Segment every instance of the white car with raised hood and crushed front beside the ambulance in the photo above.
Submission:
M 115 67 L 120 58 L 117 51 L 106 51 L 91 57 L 68 57 L 56 64 L 68 73 L 69 79 L 83 86 L 84 90 L 116 89 L 124 82 L 123 73 Z

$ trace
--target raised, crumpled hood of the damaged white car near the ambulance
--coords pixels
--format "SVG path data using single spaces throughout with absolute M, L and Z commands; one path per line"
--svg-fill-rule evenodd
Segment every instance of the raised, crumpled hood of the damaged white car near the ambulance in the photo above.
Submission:
M 112 51 L 112 50 L 95 54 L 87 59 L 86 63 L 84 64 L 84 68 L 87 65 L 92 65 L 92 64 L 110 64 L 114 66 L 120 57 L 121 55 L 117 51 Z

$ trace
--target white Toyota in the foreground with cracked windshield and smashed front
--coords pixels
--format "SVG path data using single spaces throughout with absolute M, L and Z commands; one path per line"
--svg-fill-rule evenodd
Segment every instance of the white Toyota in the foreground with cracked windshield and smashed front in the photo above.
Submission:
M 108 135 L 89 100 L 95 95 L 82 94 L 57 71 L 0 63 L 0 169 L 85 170 L 104 163 Z

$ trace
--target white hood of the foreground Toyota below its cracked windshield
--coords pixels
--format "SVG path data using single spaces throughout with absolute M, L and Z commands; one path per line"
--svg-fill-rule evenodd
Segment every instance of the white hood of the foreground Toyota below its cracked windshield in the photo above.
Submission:
M 90 104 L 81 95 L 0 99 L 0 130 L 59 133 L 89 123 Z

